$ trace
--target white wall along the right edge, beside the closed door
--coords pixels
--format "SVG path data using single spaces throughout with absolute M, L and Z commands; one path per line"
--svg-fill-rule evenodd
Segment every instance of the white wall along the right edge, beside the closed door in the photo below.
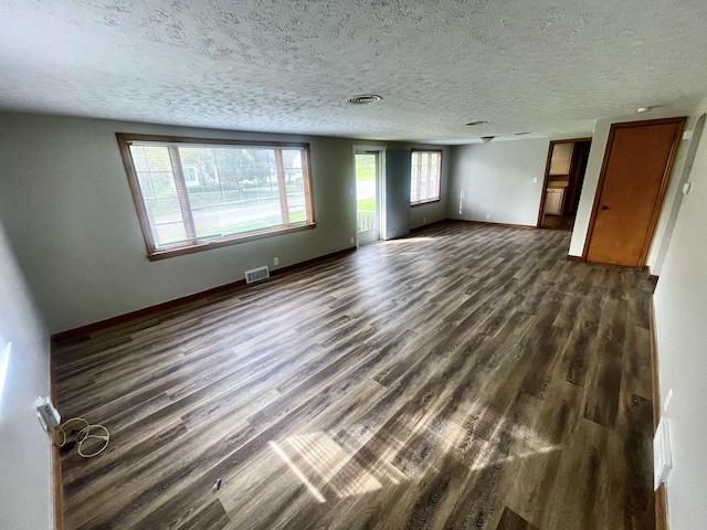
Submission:
M 707 99 L 696 116 L 707 112 Z M 707 141 L 675 223 L 654 295 L 661 395 L 673 389 L 671 530 L 707 528 Z

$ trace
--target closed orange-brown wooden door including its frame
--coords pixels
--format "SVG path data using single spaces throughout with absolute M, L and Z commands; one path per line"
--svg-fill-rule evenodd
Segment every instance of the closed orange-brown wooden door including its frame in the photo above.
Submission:
M 590 222 L 588 262 L 641 267 L 685 118 L 615 124 Z

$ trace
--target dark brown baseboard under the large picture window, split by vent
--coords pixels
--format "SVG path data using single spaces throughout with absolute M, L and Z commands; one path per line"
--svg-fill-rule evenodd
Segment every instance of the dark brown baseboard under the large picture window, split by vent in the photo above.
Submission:
M 283 274 L 287 274 L 293 271 L 298 271 L 300 268 L 306 268 L 312 265 L 315 265 L 319 262 L 324 262 L 326 259 L 337 258 L 355 252 L 356 247 L 344 248 L 342 251 L 333 252 L 330 254 L 326 254 L 324 256 L 315 257 L 312 259 L 307 259 L 305 262 L 297 263 L 295 265 L 288 265 L 286 267 L 277 268 L 271 271 L 271 276 L 279 276 Z M 137 309 L 135 311 L 126 312 L 125 315 L 118 315 L 116 317 L 110 317 L 105 320 L 99 320 L 97 322 L 87 324 L 85 326 L 80 326 L 78 328 L 68 329 L 66 331 L 60 331 L 59 333 L 52 335 L 52 343 L 61 343 L 61 342 L 70 342 L 73 340 L 78 340 L 88 335 L 102 331 L 104 329 L 110 328 L 113 326 L 119 326 L 123 324 L 130 322 L 133 320 L 137 320 L 138 318 L 145 318 L 149 316 L 155 316 L 157 314 L 161 314 L 171 309 L 176 309 L 184 304 L 189 304 L 192 301 L 202 300 L 204 298 L 209 298 L 217 295 L 222 295 L 232 290 L 236 290 L 239 288 L 243 288 L 245 286 L 245 279 L 239 279 L 238 282 L 232 282 L 230 284 L 220 285 L 218 287 L 213 287 L 211 289 L 202 290 L 200 293 L 194 293 L 193 295 L 182 296 L 180 298 L 176 298 L 173 300 L 163 301 L 161 304 L 157 304 L 155 306 L 145 307 L 143 309 Z

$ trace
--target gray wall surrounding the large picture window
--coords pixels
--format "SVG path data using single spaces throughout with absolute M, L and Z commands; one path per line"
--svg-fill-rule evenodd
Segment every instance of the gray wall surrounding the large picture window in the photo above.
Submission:
M 149 262 L 116 131 L 308 141 L 317 227 Z M 284 267 L 349 247 L 356 230 L 354 145 L 360 144 L 384 145 L 0 114 L 0 216 L 54 333 L 235 282 L 249 268 L 276 268 L 275 256 Z M 443 168 L 443 189 L 446 174 Z M 422 216 L 428 224 L 444 219 L 445 203 L 413 211 L 415 227 Z

